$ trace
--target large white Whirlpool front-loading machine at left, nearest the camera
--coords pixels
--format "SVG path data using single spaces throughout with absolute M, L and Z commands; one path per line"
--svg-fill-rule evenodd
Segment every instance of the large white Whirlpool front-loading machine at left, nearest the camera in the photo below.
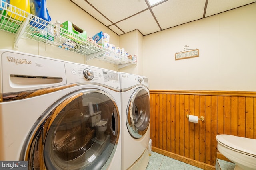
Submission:
M 120 170 L 118 72 L 0 50 L 0 160 Z

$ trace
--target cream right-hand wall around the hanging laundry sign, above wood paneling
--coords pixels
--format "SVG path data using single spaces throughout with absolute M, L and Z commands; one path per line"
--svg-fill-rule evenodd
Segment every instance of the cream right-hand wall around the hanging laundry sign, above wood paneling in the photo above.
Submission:
M 254 3 L 145 36 L 150 89 L 256 91 L 255 18 Z M 175 60 L 185 45 L 199 57 Z

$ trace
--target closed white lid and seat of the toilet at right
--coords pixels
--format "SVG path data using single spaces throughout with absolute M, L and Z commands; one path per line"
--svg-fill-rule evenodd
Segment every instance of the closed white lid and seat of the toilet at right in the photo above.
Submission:
M 256 156 L 256 139 L 238 137 L 234 135 L 217 135 L 218 142 L 232 149 Z

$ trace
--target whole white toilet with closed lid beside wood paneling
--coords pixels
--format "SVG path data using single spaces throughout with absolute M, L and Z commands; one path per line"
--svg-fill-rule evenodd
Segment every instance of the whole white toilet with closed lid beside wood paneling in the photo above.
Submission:
M 221 154 L 236 164 L 234 170 L 256 170 L 256 139 L 217 135 Z

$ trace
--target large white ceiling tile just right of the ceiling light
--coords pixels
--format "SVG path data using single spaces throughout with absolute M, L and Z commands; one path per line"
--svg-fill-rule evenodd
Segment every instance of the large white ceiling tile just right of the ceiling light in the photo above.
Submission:
M 205 0 L 169 0 L 152 8 L 162 29 L 203 18 Z

